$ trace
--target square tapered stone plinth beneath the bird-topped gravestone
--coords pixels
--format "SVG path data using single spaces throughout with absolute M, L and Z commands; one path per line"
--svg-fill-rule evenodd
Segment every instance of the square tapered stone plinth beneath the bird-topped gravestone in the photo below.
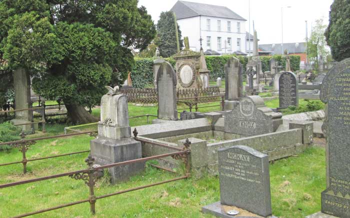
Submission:
M 111 139 L 103 136 L 90 141 L 91 155 L 95 158 L 94 163 L 106 165 L 141 158 L 141 142 L 132 137 Z M 111 183 L 128 180 L 130 176 L 143 171 L 144 162 L 131 163 L 122 166 L 108 168 Z

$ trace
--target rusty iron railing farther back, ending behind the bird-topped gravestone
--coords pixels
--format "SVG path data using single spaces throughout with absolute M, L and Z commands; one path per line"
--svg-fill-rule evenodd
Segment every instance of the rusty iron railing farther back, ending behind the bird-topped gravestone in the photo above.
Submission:
M 21 137 L 21 140 L 17 141 L 8 141 L 8 142 L 1 142 L 1 146 L 10 146 L 12 148 L 17 148 L 19 152 L 22 153 L 22 160 L 20 161 L 13 161 L 13 162 L 6 162 L 6 163 L 0 163 L 0 166 L 5 165 L 11 165 L 11 164 L 17 164 L 22 163 L 23 165 L 23 173 L 27 172 L 27 162 L 30 161 L 36 161 L 36 160 L 42 160 L 42 159 L 49 159 L 49 158 L 55 158 L 60 156 L 67 156 L 72 154 L 78 154 L 78 153 L 85 153 L 89 152 L 90 150 L 83 150 L 83 151 L 76 151 L 76 152 L 70 152 L 70 153 L 63 153 L 63 154 L 57 154 L 53 156 L 45 156 L 45 157 L 38 157 L 38 158 L 26 158 L 26 151 L 29 149 L 29 147 L 36 143 L 38 140 L 45 140 L 45 139 L 52 139 L 52 138 L 61 138 L 61 137 L 68 137 L 68 136 L 74 136 L 74 135 L 81 135 L 81 134 L 89 134 L 90 136 L 96 136 L 97 131 L 85 131 L 85 132 L 77 132 L 77 133 L 71 133 L 71 134 L 62 134 L 62 135 L 53 135 L 53 136 L 46 136 L 46 137 L 39 137 L 39 138 L 30 138 L 25 139 L 25 133 L 21 132 L 19 135 Z

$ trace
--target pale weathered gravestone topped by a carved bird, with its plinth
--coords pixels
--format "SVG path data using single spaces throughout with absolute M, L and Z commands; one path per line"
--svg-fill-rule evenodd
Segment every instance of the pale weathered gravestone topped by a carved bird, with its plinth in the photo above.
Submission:
M 95 164 L 105 165 L 141 158 L 141 142 L 131 137 L 127 96 L 117 94 L 118 86 L 106 86 L 108 93 L 101 98 L 98 136 L 90 141 Z M 127 180 L 144 168 L 144 163 L 132 163 L 108 168 L 111 182 Z

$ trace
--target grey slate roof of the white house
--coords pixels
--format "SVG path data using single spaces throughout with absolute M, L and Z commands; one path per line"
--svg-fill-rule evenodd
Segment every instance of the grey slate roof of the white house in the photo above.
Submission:
M 246 20 L 243 17 L 239 16 L 237 13 L 230 10 L 228 7 L 196 3 L 196 2 L 190 2 L 190 1 L 178 0 L 172 6 L 170 11 L 173 11 L 176 14 L 177 19 L 183 19 L 183 18 L 199 16 L 199 15 L 206 15 L 206 16 Z

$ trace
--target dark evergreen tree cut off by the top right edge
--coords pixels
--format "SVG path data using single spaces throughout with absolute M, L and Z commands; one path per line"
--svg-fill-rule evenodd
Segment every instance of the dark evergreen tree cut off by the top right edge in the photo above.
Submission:
M 335 60 L 350 57 L 350 0 L 334 0 L 325 37 Z

